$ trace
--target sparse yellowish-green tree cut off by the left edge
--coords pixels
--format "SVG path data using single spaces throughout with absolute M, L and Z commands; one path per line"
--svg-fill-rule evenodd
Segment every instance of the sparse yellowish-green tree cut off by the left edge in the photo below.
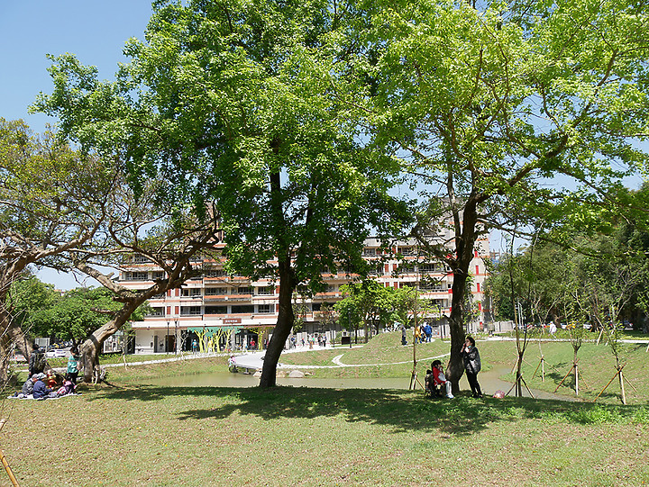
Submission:
M 32 265 L 69 269 L 63 256 L 86 246 L 103 224 L 112 183 L 97 158 L 0 119 L 0 383 L 13 345 L 32 353 L 7 307 L 12 285 Z

